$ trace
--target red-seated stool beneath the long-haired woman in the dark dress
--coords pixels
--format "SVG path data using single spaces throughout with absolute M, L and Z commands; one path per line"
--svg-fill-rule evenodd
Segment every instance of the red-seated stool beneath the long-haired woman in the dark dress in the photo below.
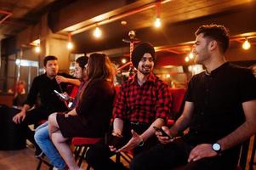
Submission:
M 88 150 L 88 147 L 92 144 L 96 144 L 100 142 L 101 138 L 82 138 L 82 137 L 75 137 L 72 138 L 71 144 L 75 145 L 75 160 L 78 160 L 78 167 L 81 167 L 82 159 L 85 158 L 86 151 Z M 81 153 L 82 151 L 82 153 Z M 80 154 L 81 153 L 81 154 Z M 90 169 L 90 166 L 88 165 L 87 169 Z

